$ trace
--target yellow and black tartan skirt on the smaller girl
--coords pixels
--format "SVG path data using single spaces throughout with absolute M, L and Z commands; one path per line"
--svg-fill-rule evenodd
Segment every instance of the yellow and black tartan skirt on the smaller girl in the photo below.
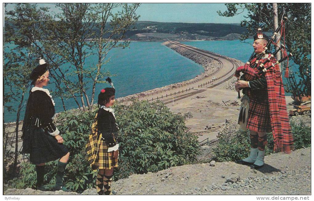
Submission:
M 113 153 L 107 152 L 108 146 L 106 145 L 106 142 L 101 140 L 100 146 L 99 146 L 99 167 L 98 169 L 111 169 L 113 167 L 118 167 L 118 159 L 112 158 Z

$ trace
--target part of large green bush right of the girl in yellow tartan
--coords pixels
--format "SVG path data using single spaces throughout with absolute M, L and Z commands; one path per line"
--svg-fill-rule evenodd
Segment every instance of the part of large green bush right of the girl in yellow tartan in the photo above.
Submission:
M 184 117 L 162 103 L 134 102 L 116 108 L 120 156 L 115 179 L 192 163 L 198 154 L 196 136 L 187 132 Z

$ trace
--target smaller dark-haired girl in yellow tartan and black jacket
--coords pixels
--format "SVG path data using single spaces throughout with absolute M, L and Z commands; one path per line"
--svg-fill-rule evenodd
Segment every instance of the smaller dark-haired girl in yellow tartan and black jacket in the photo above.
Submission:
M 111 83 L 111 79 L 109 83 Z M 118 126 L 114 110 L 115 89 L 102 89 L 98 95 L 98 112 L 91 127 L 86 151 L 89 165 L 98 170 L 96 190 L 99 195 L 112 195 L 111 181 L 113 168 L 118 167 L 119 144 Z

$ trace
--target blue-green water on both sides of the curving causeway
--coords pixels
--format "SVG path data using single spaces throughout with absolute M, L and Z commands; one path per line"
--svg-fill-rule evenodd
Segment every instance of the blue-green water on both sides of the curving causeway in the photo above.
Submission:
M 253 51 L 253 40 L 247 40 L 246 42 L 248 43 L 242 43 L 239 40 L 184 43 L 246 62 Z M 201 65 L 181 56 L 162 45 L 161 42 L 131 42 L 130 48 L 113 49 L 109 52 L 108 57 L 111 60 L 106 64 L 105 71 L 109 70 L 111 74 L 117 75 L 111 77 L 116 88 L 116 98 L 186 81 L 204 72 Z M 96 56 L 90 56 L 86 59 L 85 66 L 95 64 L 97 61 Z M 283 80 L 285 83 L 286 79 Z M 108 84 L 96 85 L 94 103 L 97 103 L 98 92 L 105 87 L 110 86 Z M 54 84 L 50 83 L 46 88 L 54 91 Z M 8 90 L 8 87 L 4 86 L 4 89 Z M 90 91 L 91 89 L 88 90 L 89 95 L 91 94 Z M 27 99 L 28 93 L 24 98 L 24 103 Z M 56 112 L 63 111 L 61 99 L 57 97 L 53 97 L 53 99 L 56 103 Z M 18 101 L 11 103 L 14 107 L 17 107 L 18 104 Z M 72 99 L 65 100 L 65 106 L 66 109 L 78 107 Z M 20 120 L 23 118 L 24 110 L 21 112 Z M 5 109 L 4 120 L 5 122 L 15 121 L 16 114 L 9 113 Z

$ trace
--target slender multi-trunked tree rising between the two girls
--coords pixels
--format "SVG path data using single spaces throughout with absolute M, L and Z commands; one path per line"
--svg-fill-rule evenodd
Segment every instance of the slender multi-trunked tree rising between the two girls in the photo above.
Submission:
M 41 41 L 33 42 L 52 63 L 53 74 L 62 81 L 60 94 L 73 98 L 83 110 L 86 106 L 91 109 L 96 84 L 104 83 L 103 78 L 110 75 L 104 70 L 109 61 L 105 60 L 106 56 L 112 48 L 128 47 L 129 42 L 118 42 L 138 20 L 135 11 L 139 4 L 56 3 L 55 6 L 62 11 L 56 15 L 61 20 L 47 21 Z M 87 65 L 86 59 L 93 55 L 98 56 L 98 61 L 89 60 Z

